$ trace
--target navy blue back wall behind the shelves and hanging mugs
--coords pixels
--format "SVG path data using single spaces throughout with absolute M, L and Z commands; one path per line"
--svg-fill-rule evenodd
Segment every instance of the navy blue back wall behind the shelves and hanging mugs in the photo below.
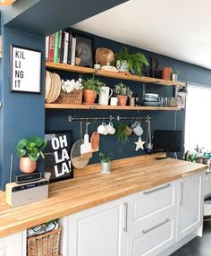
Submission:
M 89 35 L 90 36 L 90 35 Z M 106 38 L 100 38 L 97 36 L 93 36 L 94 48 L 97 47 L 108 47 L 112 49 L 114 52 L 119 51 L 122 47 L 122 44 L 115 42 L 113 40 L 109 40 Z M 154 56 L 160 63 L 160 69 L 163 66 L 171 66 L 173 70 L 177 70 L 180 72 L 180 80 L 181 81 L 191 81 L 195 83 L 201 84 L 211 84 L 211 72 L 200 68 L 198 66 L 192 64 L 186 64 L 181 61 L 177 61 L 173 58 L 166 57 L 164 55 L 157 55 L 155 53 L 151 53 L 148 51 L 144 51 L 142 49 L 138 49 L 136 47 L 127 46 L 130 52 L 141 51 L 146 56 Z M 61 77 L 65 79 L 78 78 L 78 75 L 75 73 L 65 73 L 65 72 L 57 72 L 61 75 Z M 83 76 L 84 78 L 86 76 Z M 106 85 L 114 87 L 114 84 L 120 82 L 119 80 L 109 79 L 109 78 L 99 78 L 101 81 L 104 81 Z M 139 82 L 135 81 L 123 81 L 128 86 L 131 87 L 131 90 L 134 93 L 137 93 L 139 96 L 142 96 L 142 88 L 143 85 Z M 146 91 L 152 93 L 158 93 L 161 96 L 165 97 L 173 97 L 173 88 L 167 86 L 157 86 L 154 84 L 147 84 Z M 107 111 L 107 110 L 46 110 L 46 130 L 54 131 L 54 130 L 72 130 L 73 131 L 73 140 L 77 140 L 79 138 L 79 122 L 68 122 L 68 115 L 73 116 L 84 116 L 84 117 L 95 117 L 95 116 L 109 116 L 109 115 L 122 115 L 122 116 L 152 116 L 152 129 L 174 129 L 175 125 L 178 130 L 184 131 L 184 120 L 185 120 L 185 111 L 142 111 L 138 113 L 138 111 Z M 175 122 L 176 120 L 176 122 Z M 100 123 L 97 123 L 100 124 Z M 116 122 L 114 123 L 116 124 Z M 128 124 L 131 124 L 129 121 Z M 146 140 L 147 130 L 146 125 L 142 122 L 144 127 L 144 134 L 142 136 L 142 140 Z M 84 124 L 85 125 L 85 124 Z M 90 132 L 94 132 L 97 126 L 95 124 L 90 125 Z M 103 152 L 113 152 L 114 158 L 127 158 L 137 155 L 142 155 L 145 152 L 143 150 L 135 151 L 134 141 L 137 141 L 137 136 L 134 134 L 130 137 L 130 143 L 122 147 L 122 152 L 119 150 L 118 143 L 116 142 L 115 136 L 101 136 L 100 138 L 100 150 Z M 182 157 L 182 153 L 179 154 L 180 158 Z M 94 157 L 90 160 L 90 163 L 95 163 L 98 161 L 97 153 L 95 153 Z

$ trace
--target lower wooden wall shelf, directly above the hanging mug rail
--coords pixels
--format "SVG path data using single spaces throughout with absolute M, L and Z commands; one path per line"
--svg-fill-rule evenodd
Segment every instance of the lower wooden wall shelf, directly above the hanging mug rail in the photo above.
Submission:
M 56 104 L 50 103 L 45 105 L 46 108 L 57 108 L 57 109 L 100 109 L 100 110 L 165 110 L 175 111 L 181 110 L 180 107 L 131 107 L 131 106 L 102 106 L 102 105 L 77 105 L 77 104 Z

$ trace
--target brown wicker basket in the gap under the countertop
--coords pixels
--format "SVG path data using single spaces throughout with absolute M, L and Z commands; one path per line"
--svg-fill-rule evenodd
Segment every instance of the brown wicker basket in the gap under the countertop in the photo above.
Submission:
M 27 238 L 28 256 L 58 256 L 62 228 Z

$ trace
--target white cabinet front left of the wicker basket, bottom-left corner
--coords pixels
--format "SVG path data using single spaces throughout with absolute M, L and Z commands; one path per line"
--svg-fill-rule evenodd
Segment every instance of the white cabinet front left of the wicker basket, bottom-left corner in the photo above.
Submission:
M 0 238 L 0 256 L 26 256 L 25 232 Z

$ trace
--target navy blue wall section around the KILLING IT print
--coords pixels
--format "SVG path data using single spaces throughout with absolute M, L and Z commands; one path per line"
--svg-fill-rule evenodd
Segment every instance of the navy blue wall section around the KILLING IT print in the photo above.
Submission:
M 21 138 L 32 135 L 44 136 L 45 109 L 44 109 L 44 88 L 42 94 L 11 93 L 10 84 L 10 47 L 11 45 L 28 47 L 42 51 L 43 71 L 42 85 L 44 84 L 45 71 L 45 37 L 35 36 L 29 33 L 3 29 L 4 35 L 4 59 L 1 64 L 4 75 L 1 75 L 1 95 L 4 107 L 0 109 L 1 129 L 1 188 L 9 182 L 10 158 L 14 156 L 14 174 L 20 174 L 18 170 L 18 158 L 14 154 L 14 147 Z M 2 74 L 2 73 L 1 73 Z M 30 86 L 30 84 L 29 84 Z M 2 150 L 4 149 L 4 150 Z M 40 167 L 42 170 L 42 167 Z

